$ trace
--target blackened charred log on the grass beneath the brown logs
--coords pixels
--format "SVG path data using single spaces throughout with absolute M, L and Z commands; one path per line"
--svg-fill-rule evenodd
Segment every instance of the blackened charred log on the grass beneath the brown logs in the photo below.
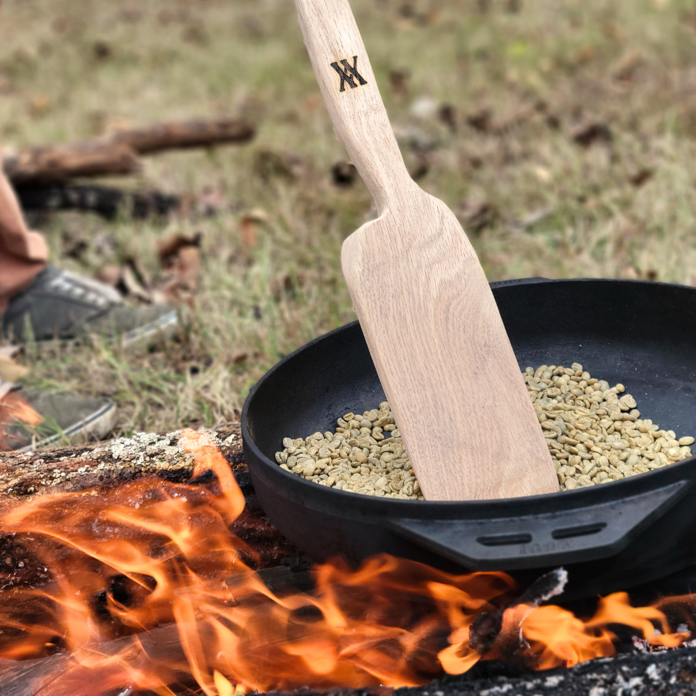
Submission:
M 125 212 L 136 219 L 166 215 L 180 205 L 178 196 L 160 191 L 122 191 L 106 186 L 74 184 L 30 184 L 15 187 L 25 210 L 80 210 L 112 219 Z

